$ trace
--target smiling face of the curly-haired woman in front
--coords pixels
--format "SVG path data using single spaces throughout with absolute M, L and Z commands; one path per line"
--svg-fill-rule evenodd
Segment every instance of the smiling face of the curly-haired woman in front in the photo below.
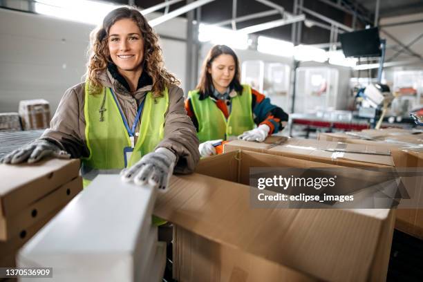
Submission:
M 144 57 L 144 41 L 137 24 L 131 19 L 116 21 L 109 30 L 108 46 L 110 57 L 124 75 L 141 71 Z

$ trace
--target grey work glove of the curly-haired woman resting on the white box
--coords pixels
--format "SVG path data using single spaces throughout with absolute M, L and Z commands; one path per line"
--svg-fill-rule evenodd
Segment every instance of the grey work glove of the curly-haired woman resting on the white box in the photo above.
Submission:
M 160 147 L 143 156 L 128 169 L 122 169 L 122 181 L 133 180 L 136 185 L 149 184 L 158 189 L 166 189 L 175 167 L 176 155 L 167 148 Z

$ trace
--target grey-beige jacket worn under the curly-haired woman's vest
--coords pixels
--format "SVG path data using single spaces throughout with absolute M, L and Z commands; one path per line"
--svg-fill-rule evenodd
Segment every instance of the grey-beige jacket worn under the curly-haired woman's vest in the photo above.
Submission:
M 118 98 L 128 124 L 133 124 L 138 106 L 152 86 L 144 86 L 134 93 L 126 90 L 109 71 L 99 75 L 100 82 L 105 87 L 111 87 Z M 62 97 L 57 111 L 41 139 L 59 144 L 62 149 L 71 153 L 73 158 L 88 157 L 89 151 L 85 138 L 85 82 L 69 88 Z M 200 155 L 196 128 L 187 116 L 184 107 L 184 95 L 178 86 L 170 86 L 169 108 L 165 114 L 164 139 L 156 147 L 167 148 L 177 156 L 176 173 L 191 173 L 194 171 Z M 142 122 L 142 119 L 140 119 Z M 139 131 L 138 123 L 135 132 Z M 135 137 L 135 144 L 137 138 Z

